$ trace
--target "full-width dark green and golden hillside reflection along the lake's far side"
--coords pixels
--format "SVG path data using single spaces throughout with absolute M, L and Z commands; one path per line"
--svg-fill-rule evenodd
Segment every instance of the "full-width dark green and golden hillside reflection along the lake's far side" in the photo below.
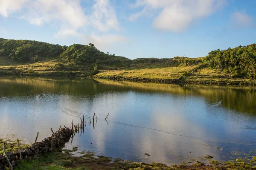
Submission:
M 71 94 L 71 96 L 94 96 L 110 91 L 137 91 L 140 93 L 171 93 L 180 96 L 202 96 L 210 104 L 222 100 L 222 106 L 256 115 L 256 88 L 206 86 L 206 85 L 166 85 L 140 82 L 117 82 L 94 79 L 49 79 L 49 78 L 0 78 L 0 97 L 28 96 L 31 94 Z

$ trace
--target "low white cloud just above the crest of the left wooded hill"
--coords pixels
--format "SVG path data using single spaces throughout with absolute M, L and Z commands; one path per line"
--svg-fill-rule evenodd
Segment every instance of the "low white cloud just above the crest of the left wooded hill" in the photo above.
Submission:
M 95 44 L 95 46 L 99 49 L 106 49 L 109 46 L 117 43 L 117 42 L 126 42 L 128 41 L 127 37 L 122 35 L 115 35 L 115 34 L 105 34 L 105 35 L 84 35 L 84 40 L 87 42 L 91 42 Z

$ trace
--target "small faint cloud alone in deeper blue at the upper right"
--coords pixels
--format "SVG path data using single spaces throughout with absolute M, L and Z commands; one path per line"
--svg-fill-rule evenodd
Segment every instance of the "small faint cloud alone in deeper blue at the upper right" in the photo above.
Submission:
M 231 16 L 231 24 L 236 28 L 253 27 L 253 17 L 241 12 L 234 12 Z

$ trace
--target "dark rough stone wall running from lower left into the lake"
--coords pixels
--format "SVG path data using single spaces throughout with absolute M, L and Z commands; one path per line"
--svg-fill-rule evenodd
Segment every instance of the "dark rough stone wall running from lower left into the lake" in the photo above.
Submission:
M 41 153 L 51 152 L 58 144 L 60 147 L 64 147 L 64 144 L 67 143 L 73 134 L 73 130 L 70 128 L 61 128 L 61 130 L 56 131 L 55 136 L 52 134 L 51 137 L 45 138 L 42 142 L 36 142 L 36 144 L 32 144 L 30 147 L 27 147 L 24 150 L 21 150 L 21 155 L 24 159 L 33 159 L 37 158 Z M 17 161 L 20 160 L 19 151 L 15 151 L 14 153 L 7 153 L 8 158 L 14 167 L 17 164 Z M 3 154 L 0 154 L 0 170 L 6 170 L 6 167 L 9 167 L 9 164 Z

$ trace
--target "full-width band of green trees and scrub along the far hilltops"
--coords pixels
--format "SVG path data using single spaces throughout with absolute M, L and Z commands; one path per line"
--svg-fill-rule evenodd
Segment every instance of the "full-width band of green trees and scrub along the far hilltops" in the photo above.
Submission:
M 235 77 L 256 79 L 256 44 L 215 50 L 206 57 L 171 59 L 138 58 L 128 59 L 99 51 L 93 44 L 70 46 L 53 45 L 30 40 L 5 40 L 0 38 L 0 57 L 8 56 L 12 61 L 33 63 L 45 59 L 61 59 L 71 65 L 99 69 L 158 68 L 172 66 L 198 65 L 198 68 L 210 67 L 231 73 Z

